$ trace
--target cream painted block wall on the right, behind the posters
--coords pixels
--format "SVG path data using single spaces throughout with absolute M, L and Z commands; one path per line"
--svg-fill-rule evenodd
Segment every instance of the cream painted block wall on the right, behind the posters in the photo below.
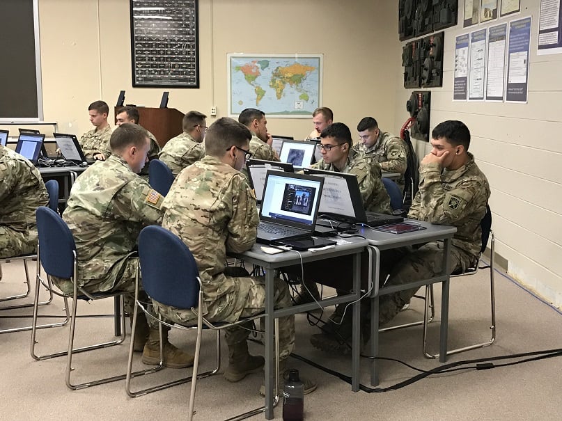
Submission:
M 521 8 L 519 15 L 445 30 L 443 87 L 430 89 L 430 129 L 444 120 L 467 124 L 472 136 L 470 151 L 492 188 L 490 207 L 497 253 L 508 261 L 511 276 L 560 306 L 562 54 L 537 56 L 539 1 L 522 0 Z M 462 0 L 459 10 L 464 10 Z M 527 16 L 532 16 L 528 103 L 453 102 L 455 37 Z M 398 81 L 397 116 L 411 91 Z M 428 143 L 417 142 L 416 150 L 421 159 L 428 152 Z

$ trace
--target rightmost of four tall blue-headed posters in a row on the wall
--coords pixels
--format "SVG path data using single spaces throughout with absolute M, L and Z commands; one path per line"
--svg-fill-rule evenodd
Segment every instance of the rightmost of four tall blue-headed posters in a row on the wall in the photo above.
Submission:
M 506 102 L 527 102 L 531 17 L 509 22 Z

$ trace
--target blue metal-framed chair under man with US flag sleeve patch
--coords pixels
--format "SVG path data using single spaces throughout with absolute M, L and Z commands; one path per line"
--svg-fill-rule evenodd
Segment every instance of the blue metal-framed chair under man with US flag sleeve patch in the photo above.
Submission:
M 98 294 L 90 294 L 85 292 L 84 289 L 77 286 L 74 283 L 74 290 L 72 294 L 64 294 L 62 292 L 57 292 L 52 289 L 52 283 L 49 280 L 49 276 L 57 276 L 59 278 L 66 278 L 70 280 L 77 280 L 77 262 L 76 262 L 76 246 L 75 241 L 72 238 L 72 232 L 63 221 L 60 215 L 58 215 L 53 209 L 49 207 L 39 207 L 37 209 L 37 230 L 39 235 L 39 244 L 37 247 L 37 255 L 40 264 L 42 264 L 43 269 L 47 273 L 47 281 L 40 277 L 38 271 L 37 283 L 36 283 L 36 299 L 33 303 L 33 325 L 31 329 L 31 356 L 36 360 L 45 360 L 47 358 L 54 358 L 58 356 L 67 356 L 66 364 L 66 374 L 65 381 L 66 386 L 70 389 L 81 389 L 90 386 L 95 386 L 102 383 L 109 383 L 110 381 L 116 381 L 125 379 L 125 374 L 120 376 L 108 377 L 106 379 L 99 379 L 95 381 L 89 381 L 81 384 L 73 384 L 70 381 L 70 373 L 74 370 L 72 368 L 72 355 L 78 352 L 90 351 L 91 349 L 99 349 L 104 347 L 109 347 L 112 345 L 117 345 L 125 340 L 125 315 L 123 314 L 123 292 L 103 292 Z M 44 285 L 50 288 L 54 294 L 63 297 L 65 301 L 65 308 L 68 309 L 68 298 L 72 298 L 72 310 L 70 312 L 70 334 L 68 337 L 68 349 L 66 351 L 56 352 L 53 354 L 47 354 L 38 356 L 35 351 L 36 344 L 36 329 L 37 319 L 38 319 L 38 295 L 39 295 L 39 285 Z M 75 349 L 74 337 L 77 319 L 77 305 L 80 300 L 99 300 L 104 298 L 113 298 L 115 296 L 120 296 L 121 299 L 121 332 L 122 335 L 118 340 L 113 340 L 109 342 L 104 342 L 101 344 L 89 345 L 87 347 L 81 347 Z M 68 310 L 67 310 L 68 312 Z

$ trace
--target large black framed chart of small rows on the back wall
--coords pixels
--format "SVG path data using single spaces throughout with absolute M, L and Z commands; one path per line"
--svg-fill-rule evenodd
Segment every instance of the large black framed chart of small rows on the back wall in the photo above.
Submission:
M 199 87 L 198 0 L 130 0 L 132 85 Z

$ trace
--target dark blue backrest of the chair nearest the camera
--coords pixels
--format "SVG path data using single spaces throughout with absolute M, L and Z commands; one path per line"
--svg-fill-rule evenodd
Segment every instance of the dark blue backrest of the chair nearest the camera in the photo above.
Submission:
M 184 242 L 158 225 L 139 235 L 143 289 L 150 298 L 176 308 L 192 308 L 199 301 L 199 271 Z

